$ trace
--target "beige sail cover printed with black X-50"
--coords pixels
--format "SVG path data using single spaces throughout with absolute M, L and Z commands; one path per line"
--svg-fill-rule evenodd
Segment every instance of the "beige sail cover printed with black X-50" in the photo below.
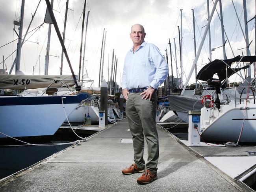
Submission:
M 61 87 L 60 80 L 73 86 L 74 79 L 70 75 L 7 75 L 0 74 L 0 89 L 36 89 L 50 87 Z M 26 88 L 25 88 L 26 87 Z

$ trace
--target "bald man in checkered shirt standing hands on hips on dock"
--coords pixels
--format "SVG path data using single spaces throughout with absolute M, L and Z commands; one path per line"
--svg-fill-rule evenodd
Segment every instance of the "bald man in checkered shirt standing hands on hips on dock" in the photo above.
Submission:
M 126 116 L 132 133 L 134 164 L 122 170 L 125 175 L 143 173 L 139 184 L 148 184 L 157 179 L 159 157 L 158 133 L 156 130 L 156 89 L 165 81 L 169 68 L 159 49 L 146 43 L 142 25 L 131 28 L 130 37 L 134 46 L 128 51 L 122 74 L 122 94 L 127 100 Z M 148 147 L 148 162 L 143 159 L 144 136 Z

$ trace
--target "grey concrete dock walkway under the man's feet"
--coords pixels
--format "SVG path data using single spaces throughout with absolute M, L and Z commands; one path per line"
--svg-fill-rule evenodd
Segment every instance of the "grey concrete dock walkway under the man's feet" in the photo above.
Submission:
M 158 179 L 148 185 L 138 185 L 136 181 L 141 174 L 121 173 L 133 163 L 132 135 L 128 129 L 127 120 L 122 120 L 86 142 L 61 151 L 0 183 L 0 191 L 249 191 L 216 172 L 160 127 Z M 144 155 L 147 160 L 147 148 Z

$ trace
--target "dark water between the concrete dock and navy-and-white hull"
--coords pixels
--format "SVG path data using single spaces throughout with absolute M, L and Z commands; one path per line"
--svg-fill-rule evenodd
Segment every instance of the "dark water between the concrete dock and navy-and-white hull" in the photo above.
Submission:
M 73 133 L 74 134 L 74 133 Z M 81 137 L 89 137 L 91 134 L 83 134 Z M 30 143 L 69 143 L 78 140 L 73 135 L 63 137 L 63 135 L 54 135 L 50 140 L 34 140 Z M 21 144 L 20 142 L 8 142 L 8 144 Z M 1 142 L 1 145 L 3 143 Z M 58 146 L 9 146 L 0 147 L 0 179 L 14 174 L 24 168 L 27 168 L 51 155 L 57 153 L 71 144 Z

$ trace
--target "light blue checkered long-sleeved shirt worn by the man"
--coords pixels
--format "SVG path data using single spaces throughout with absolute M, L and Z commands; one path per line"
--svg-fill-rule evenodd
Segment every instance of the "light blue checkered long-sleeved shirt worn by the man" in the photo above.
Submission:
M 157 89 L 169 72 L 163 55 L 157 46 L 145 41 L 134 53 L 133 49 L 128 51 L 124 60 L 122 89 L 138 89 L 150 85 Z

